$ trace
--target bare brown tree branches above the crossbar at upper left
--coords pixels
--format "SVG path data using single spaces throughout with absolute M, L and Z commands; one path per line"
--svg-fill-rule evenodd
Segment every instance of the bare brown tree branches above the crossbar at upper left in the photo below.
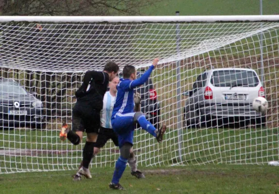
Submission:
M 0 0 L 2 16 L 141 15 L 144 7 L 162 0 Z

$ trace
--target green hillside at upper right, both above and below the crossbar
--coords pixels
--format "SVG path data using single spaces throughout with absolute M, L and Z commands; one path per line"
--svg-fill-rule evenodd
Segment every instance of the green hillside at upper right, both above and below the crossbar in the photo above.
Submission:
M 152 6 L 142 8 L 142 15 L 147 16 L 174 16 L 175 11 L 180 11 L 181 16 L 204 16 L 204 15 L 259 15 L 260 0 L 163 0 Z M 276 0 L 263 1 L 263 14 L 278 14 L 279 4 Z M 189 58 L 189 53 L 183 53 L 189 48 L 197 47 L 203 40 L 217 38 L 226 35 L 226 32 L 236 31 L 238 24 L 180 24 L 180 50 L 185 58 Z M 241 24 L 242 25 L 242 24 Z M 222 27 L 222 29 L 220 29 Z M 238 28 L 237 27 L 237 28 Z M 176 49 L 176 25 L 169 24 L 153 24 L 145 25 L 144 30 L 138 33 L 134 38 L 136 49 L 133 50 L 134 55 L 137 53 L 145 53 L 143 56 L 151 55 L 168 58 L 173 55 Z M 154 30 L 156 29 L 156 30 Z M 242 29 L 243 30 L 243 29 Z M 239 31 L 242 31 L 239 29 Z M 246 29 L 247 30 L 247 29 Z M 239 32 L 237 32 L 239 33 Z M 198 35 L 197 35 L 198 34 Z M 236 34 L 236 33 L 233 33 Z M 263 53 L 266 59 L 267 53 L 278 57 L 277 51 L 278 31 L 271 30 L 263 34 Z M 210 39 L 209 38 L 209 39 Z M 259 34 L 252 37 L 244 38 L 235 43 L 221 46 L 220 48 L 212 48 L 211 51 L 200 54 L 198 57 L 203 59 L 207 57 L 216 57 L 220 59 L 231 56 L 235 59 L 248 58 L 249 56 L 260 55 Z M 207 44 L 210 49 L 210 44 Z M 197 55 L 197 54 L 196 54 Z M 141 57 L 142 58 L 142 57 Z

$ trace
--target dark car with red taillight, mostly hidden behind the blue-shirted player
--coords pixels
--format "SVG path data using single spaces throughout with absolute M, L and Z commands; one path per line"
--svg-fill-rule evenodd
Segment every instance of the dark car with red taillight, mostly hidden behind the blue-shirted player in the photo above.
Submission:
M 144 71 L 138 72 L 137 78 L 140 78 L 143 73 Z M 122 74 L 119 74 L 119 77 L 122 78 Z M 144 113 L 146 119 L 158 129 L 160 121 L 160 103 L 157 102 L 157 92 L 151 79 L 148 79 L 143 85 L 137 87 L 135 92 L 140 93 L 141 112 Z

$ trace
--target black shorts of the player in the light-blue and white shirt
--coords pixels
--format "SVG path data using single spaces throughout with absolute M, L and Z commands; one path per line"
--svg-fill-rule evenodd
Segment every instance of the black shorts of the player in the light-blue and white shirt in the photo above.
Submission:
M 118 146 L 118 137 L 117 134 L 113 131 L 113 129 L 101 127 L 94 147 L 104 147 L 109 139 L 113 141 L 115 146 Z

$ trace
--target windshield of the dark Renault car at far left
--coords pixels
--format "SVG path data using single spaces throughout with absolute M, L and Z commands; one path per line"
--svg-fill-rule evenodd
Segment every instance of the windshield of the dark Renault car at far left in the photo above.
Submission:
M 28 93 L 14 81 L 0 81 L 0 94 L 27 95 Z

